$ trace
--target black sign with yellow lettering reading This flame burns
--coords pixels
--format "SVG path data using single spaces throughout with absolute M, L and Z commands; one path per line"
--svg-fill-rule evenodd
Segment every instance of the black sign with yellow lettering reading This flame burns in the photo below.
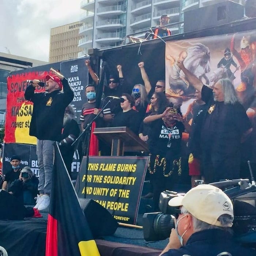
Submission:
M 90 157 L 86 198 L 105 207 L 118 222 L 136 224 L 148 157 Z M 84 198 L 86 157 L 76 182 L 78 197 Z

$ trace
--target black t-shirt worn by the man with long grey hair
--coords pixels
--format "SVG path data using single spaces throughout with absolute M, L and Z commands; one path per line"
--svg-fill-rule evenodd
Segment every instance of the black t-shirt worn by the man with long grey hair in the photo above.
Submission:
M 215 160 L 227 155 L 236 158 L 239 156 L 239 147 L 242 134 L 252 127 L 243 106 L 225 104 L 214 101 L 212 89 L 202 88 L 202 100 L 207 103 L 207 110 L 202 126 L 202 150 L 211 148 Z

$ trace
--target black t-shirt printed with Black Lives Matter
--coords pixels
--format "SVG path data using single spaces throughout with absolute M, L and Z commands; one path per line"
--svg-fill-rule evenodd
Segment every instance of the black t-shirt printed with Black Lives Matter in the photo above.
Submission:
M 184 130 L 185 127 L 181 122 L 176 122 L 172 128 L 168 128 L 162 119 L 153 121 L 148 136 L 150 153 L 165 156 L 166 159 L 179 158 Z

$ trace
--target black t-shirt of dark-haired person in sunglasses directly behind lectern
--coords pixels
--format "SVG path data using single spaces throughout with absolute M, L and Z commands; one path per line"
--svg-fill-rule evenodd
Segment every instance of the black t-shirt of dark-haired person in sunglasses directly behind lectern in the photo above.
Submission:
M 135 110 L 131 109 L 127 112 L 119 112 L 112 120 L 110 127 L 128 127 L 135 134 L 139 131 L 139 114 Z

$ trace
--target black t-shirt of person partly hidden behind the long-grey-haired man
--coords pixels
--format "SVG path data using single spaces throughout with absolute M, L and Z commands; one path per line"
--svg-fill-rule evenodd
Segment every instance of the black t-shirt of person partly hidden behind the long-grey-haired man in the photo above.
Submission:
M 206 110 L 206 104 L 196 104 L 193 106 L 193 120 L 188 139 L 188 151 L 189 153 L 192 153 L 195 158 L 200 157 L 201 129 Z

